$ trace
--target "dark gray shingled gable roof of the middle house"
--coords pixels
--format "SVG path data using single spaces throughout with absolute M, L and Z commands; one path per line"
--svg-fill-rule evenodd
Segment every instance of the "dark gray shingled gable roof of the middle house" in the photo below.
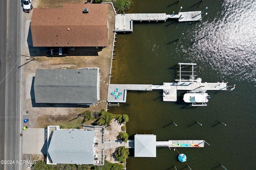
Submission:
M 36 103 L 97 103 L 98 69 L 37 69 Z

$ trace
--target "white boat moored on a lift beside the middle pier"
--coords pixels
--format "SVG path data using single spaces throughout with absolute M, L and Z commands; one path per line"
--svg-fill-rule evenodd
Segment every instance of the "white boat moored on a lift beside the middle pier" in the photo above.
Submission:
M 208 93 L 186 93 L 183 97 L 184 102 L 191 103 L 191 106 L 207 106 L 208 99 Z

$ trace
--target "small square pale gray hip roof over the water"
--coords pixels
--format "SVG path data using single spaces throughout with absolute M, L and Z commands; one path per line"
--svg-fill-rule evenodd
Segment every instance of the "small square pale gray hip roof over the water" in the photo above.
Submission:
M 156 157 L 156 135 L 134 135 L 134 157 Z

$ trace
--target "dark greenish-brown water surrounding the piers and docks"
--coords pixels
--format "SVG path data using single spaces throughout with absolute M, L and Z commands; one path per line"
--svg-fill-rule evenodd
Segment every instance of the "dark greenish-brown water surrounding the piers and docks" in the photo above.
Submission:
M 110 83 L 162 84 L 174 82 L 179 62 L 197 63 L 203 82 L 228 81 L 230 91 L 208 91 L 207 107 L 192 108 L 182 101 L 163 102 L 162 91 L 128 92 L 127 102 L 110 107 L 125 113 L 131 138 L 156 134 L 158 141 L 203 139 L 204 148 L 178 148 L 192 170 L 256 169 L 256 1 L 254 0 L 134 0 L 126 13 L 172 13 L 208 9 L 201 22 L 173 20 L 134 24 L 134 32 L 118 34 Z M 176 3 L 175 3 L 176 2 Z M 180 41 L 174 41 L 184 33 Z M 207 35 L 207 36 L 206 36 Z M 203 36 L 205 38 L 199 40 Z M 197 41 L 198 40 L 198 41 Z M 174 121 L 174 124 L 169 125 Z M 194 124 L 198 121 L 202 124 Z M 218 121 L 226 123 L 224 126 Z M 169 125 L 166 127 L 166 125 Z M 131 150 L 133 152 L 133 150 Z M 189 169 L 178 152 L 157 147 L 156 158 L 127 160 L 128 170 Z

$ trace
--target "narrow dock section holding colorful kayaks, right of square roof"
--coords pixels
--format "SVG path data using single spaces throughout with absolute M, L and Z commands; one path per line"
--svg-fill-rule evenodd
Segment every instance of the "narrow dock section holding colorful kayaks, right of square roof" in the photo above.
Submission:
M 201 147 L 204 147 L 204 140 L 168 140 L 168 141 L 156 141 L 156 146 L 167 146 L 169 148 L 178 148 L 182 146 L 173 146 L 174 143 L 182 143 L 182 144 L 199 144 Z M 194 146 L 188 146 L 183 148 L 195 148 Z M 197 147 L 196 147 L 197 148 Z

